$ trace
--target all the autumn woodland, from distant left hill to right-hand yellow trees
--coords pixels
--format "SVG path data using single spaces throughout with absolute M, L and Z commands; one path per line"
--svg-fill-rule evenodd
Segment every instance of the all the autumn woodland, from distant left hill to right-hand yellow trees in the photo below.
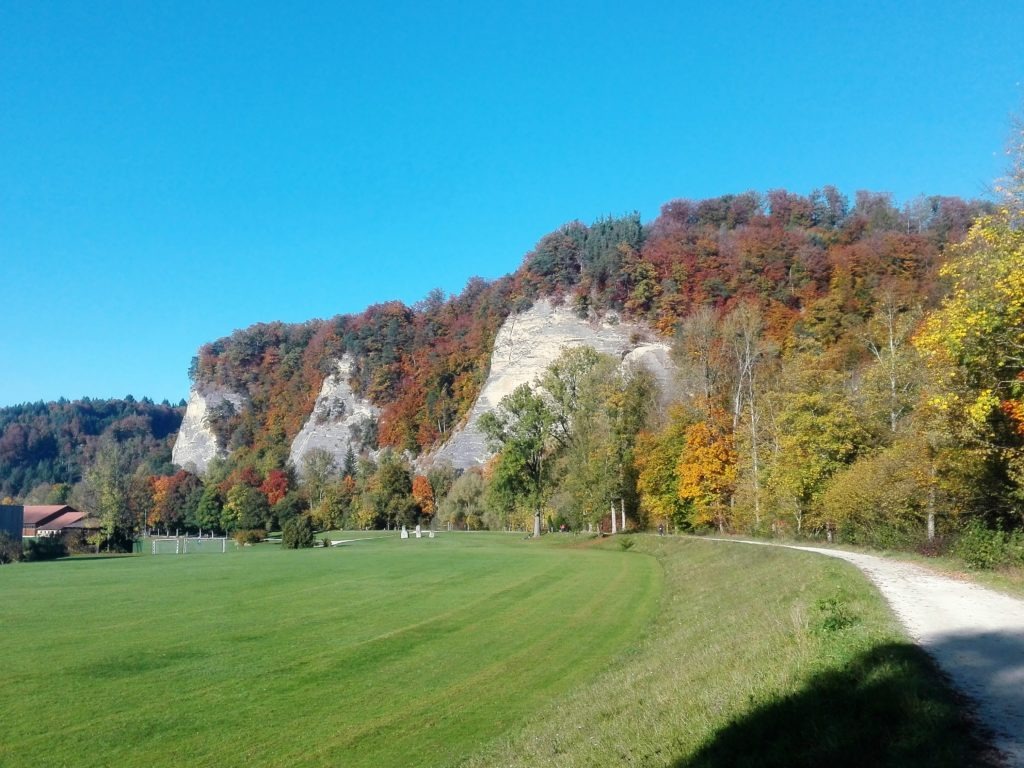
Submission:
M 172 467 L 180 407 L 0 411 L 0 495 L 77 503 L 106 544 L 140 527 L 259 538 L 438 520 L 809 537 L 979 566 L 1024 564 L 1024 173 L 993 201 L 743 193 L 573 221 L 513 274 L 457 296 L 203 346 L 196 383 L 246 394 L 212 427 L 226 458 Z M 482 470 L 431 464 L 487 376 L 498 330 L 546 297 L 671 342 L 672 391 L 566 350 L 481 427 Z M 381 409 L 342 463 L 289 445 L 342 354 Z

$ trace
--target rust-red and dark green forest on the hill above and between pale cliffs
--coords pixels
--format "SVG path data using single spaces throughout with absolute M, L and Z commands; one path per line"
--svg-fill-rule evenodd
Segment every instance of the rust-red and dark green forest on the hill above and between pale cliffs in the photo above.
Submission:
M 954 198 L 896 209 L 867 193 L 851 206 L 825 187 L 806 198 L 776 190 L 675 201 L 647 226 L 636 214 L 571 222 L 542 238 L 513 275 L 473 279 L 458 296 L 435 291 L 413 307 L 390 302 L 359 315 L 237 331 L 200 350 L 193 378 L 249 395 L 253 408 L 216 429 L 232 449 L 269 454 L 272 464 L 287 455 L 331 360 L 347 351 L 356 391 L 384 410 L 380 444 L 418 452 L 468 411 L 498 328 L 539 296 L 564 299 L 582 316 L 614 309 L 669 337 L 695 307 L 752 298 L 779 340 L 808 311 L 821 315 L 798 335 L 823 332 L 827 345 L 842 323 L 870 311 L 883 283 L 899 281 L 915 302 L 933 302 L 939 254 L 982 210 Z M 835 305 L 830 316 L 826 304 Z

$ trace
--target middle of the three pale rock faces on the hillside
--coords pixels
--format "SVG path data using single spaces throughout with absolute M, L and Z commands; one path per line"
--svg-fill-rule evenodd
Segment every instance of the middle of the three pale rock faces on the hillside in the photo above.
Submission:
M 349 445 L 358 454 L 361 442 L 359 433 L 368 427 L 372 429 L 377 421 L 380 409 L 357 397 L 349 386 L 351 370 L 351 356 L 342 355 L 335 373 L 324 380 L 313 412 L 292 440 L 289 459 L 300 475 L 303 457 L 314 449 L 327 451 L 340 467 Z

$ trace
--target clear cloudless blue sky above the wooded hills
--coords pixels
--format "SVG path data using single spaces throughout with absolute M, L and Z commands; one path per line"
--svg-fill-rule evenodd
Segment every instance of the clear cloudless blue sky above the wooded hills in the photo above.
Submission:
M 1022 32 L 1011 0 L 0 0 L 0 406 L 176 401 L 203 342 L 458 292 L 575 218 L 984 195 Z

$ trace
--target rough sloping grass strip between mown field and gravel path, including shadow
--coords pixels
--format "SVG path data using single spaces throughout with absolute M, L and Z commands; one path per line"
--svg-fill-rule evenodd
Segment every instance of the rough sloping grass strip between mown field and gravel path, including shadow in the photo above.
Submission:
M 641 642 L 468 765 L 988 764 L 963 702 L 849 563 L 636 539 L 627 556 L 653 555 L 666 579 Z

